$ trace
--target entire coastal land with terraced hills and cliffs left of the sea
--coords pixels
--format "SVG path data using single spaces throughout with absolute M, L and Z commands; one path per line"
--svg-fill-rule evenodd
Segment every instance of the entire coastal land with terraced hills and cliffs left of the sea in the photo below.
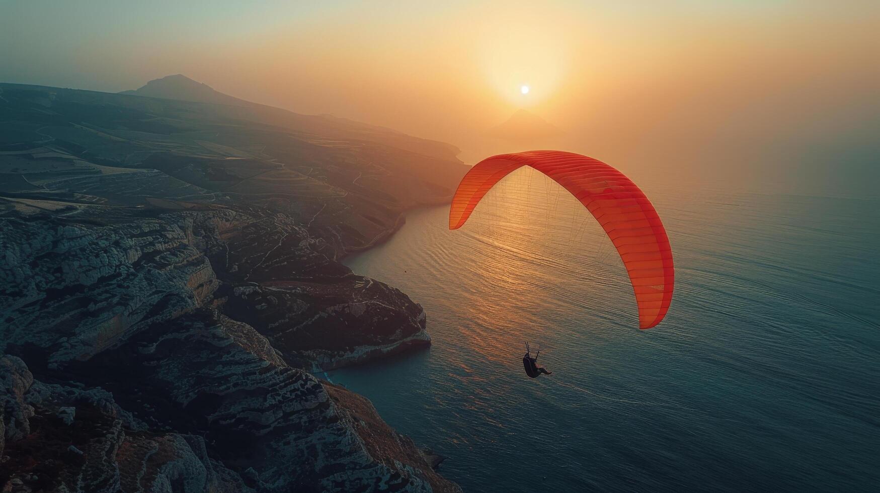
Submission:
M 4 490 L 458 489 L 309 372 L 429 344 L 420 305 L 338 260 L 464 166 L 309 121 L 0 85 Z

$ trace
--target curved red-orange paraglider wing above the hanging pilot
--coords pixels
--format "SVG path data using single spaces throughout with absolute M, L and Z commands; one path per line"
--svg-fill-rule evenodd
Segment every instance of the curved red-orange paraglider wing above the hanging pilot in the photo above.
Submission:
M 521 166 L 546 174 L 590 210 L 627 268 L 639 307 L 639 328 L 660 323 L 669 311 L 675 283 L 669 237 L 642 190 L 598 159 L 562 151 L 517 152 L 484 159 L 458 184 L 449 228 L 465 224 L 483 195 Z

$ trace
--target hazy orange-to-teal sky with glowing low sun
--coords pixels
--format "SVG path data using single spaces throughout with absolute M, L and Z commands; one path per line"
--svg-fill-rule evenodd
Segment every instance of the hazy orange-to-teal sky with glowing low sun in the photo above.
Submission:
M 880 176 L 878 5 L 0 0 L 0 81 L 115 92 L 182 73 L 467 162 L 527 145 L 483 134 L 526 107 L 565 130 L 554 145 L 625 169 L 859 178 Z

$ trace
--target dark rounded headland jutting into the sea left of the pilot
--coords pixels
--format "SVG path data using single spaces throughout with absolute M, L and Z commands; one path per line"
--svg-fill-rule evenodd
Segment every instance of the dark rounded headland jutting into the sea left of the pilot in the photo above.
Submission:
M 422 306 L 363 276 L 335 283 L 238 285 L 227 307 L 239 320 L 260 327 L 292 364 L 316 371 L 430 343 Z

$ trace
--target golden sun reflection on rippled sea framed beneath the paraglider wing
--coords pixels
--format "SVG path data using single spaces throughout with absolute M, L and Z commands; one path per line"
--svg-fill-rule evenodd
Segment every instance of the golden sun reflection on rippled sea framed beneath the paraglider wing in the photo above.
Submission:
M 458 264 L 466 303 L 450 308 L 473 322 L 459 333 L 490 360 L 509 361 L 510 349 L 523 346 L 524 333 L 558 330 L 547 324 L 546 313 L 569 311 L 565 292 L 575 284 L 587 298 L 607 298 L 601 291 L 613 283 L 628 286 L 622 262 L 590 212 L 529 167 L 492 188 L 470 221 L 451 234 L 466 235 L 456 254 L 471 258 Z M 635 313 L 633 299 L 619 305 Z

